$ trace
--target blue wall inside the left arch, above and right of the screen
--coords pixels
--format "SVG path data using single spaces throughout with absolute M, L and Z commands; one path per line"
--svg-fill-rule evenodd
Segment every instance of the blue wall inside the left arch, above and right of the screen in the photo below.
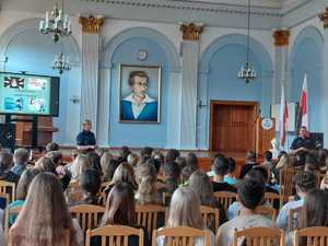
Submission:
M 27 71 L 27 73 L 58 77 L 58 71 L 52 70 L 50 67 L 55 55 L 60 54 L 60 45 L 55 45 L 49 35 L 42 35 L 37 31 L 26 30 L 16 35 L 7 48 L 7 71 Z M 68 54 L 66 50 L 63 51 Z M 66 143 L 68 78 L 67 72 L 60 78 L 59 117 L 54 118 L 54 126 L 59 128 L 59 132 L 54 134 L 54 141 L 58 143 Z

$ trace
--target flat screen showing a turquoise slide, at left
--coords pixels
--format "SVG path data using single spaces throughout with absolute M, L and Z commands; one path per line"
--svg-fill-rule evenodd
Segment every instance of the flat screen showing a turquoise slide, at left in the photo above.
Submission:
M 0 72 L 0 114 L 58 116 L 59 78 Z

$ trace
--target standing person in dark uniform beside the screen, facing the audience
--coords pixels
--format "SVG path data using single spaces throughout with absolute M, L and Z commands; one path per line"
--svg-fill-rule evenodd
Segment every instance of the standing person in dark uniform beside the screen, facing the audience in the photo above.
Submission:
M 79 150 L 94 150 L 96 140 L 94 133 L 91 131 L 92 124 L 89 119 L 85 119 L 82 124 L 83 130 L 77 137 L 77 145 Z

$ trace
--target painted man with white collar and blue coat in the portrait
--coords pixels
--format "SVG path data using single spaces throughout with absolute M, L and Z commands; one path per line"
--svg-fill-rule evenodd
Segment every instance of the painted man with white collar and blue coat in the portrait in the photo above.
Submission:
M 157 121 L 157 101 L 147 94 L 149 77 L 144 71 L 129 73 L 131 93 L 121 101 L 121 120 Z

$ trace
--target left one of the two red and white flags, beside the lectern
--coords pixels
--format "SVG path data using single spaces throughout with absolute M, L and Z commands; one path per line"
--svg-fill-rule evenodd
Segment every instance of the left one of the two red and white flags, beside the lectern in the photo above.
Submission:
M 279 131 L 280 131 L 280 145 L 284 147 L 286 132 L 288 132 L 289 109 L 284 97 L 284 86 L 281 85 L 281 101 L 279 113 Z

